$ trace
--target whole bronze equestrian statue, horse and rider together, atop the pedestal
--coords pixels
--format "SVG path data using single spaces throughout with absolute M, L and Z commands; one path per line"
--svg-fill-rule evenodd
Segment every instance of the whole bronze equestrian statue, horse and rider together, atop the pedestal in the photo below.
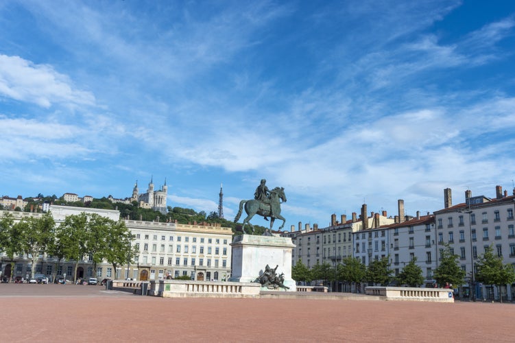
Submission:
M 243 226 L 241 226 L 243 233 L 245 233 L 245 224 L 249 224 L 250 228 L 252 228 L 252 234 L 254 234 L 254 226 L 250 224 L 250 220 L 256 214 L 261 215 L 265 220 L 268 220 L 267 217 L 270 217 L 270 229 L 267 229 L 264 235 L 272 235 L 272 226 L 276 219 L 283 220 L 279 230 L 285 226 L 285 217 L 280 215 L 280 204 L 281 202 L 286 202 L 285 189 L 283 187 L 276 187 L 270 191 L 266 186 L 266 182 L 267 180 L 264 178 L 261 180 L 254 193 L 254 199 L 241 200 L 239 202 L 239 211 L 235 217 L 235 223 L 241 217 L 244 205 L 247 217 L 243 220 Z

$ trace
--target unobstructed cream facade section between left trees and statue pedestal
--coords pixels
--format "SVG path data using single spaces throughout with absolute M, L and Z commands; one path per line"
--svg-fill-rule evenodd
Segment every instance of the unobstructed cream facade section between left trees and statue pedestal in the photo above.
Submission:
M 128 277 L 157 280 L 187 275 L 198 281 L 228 280 L 231 228 L 207 223 L 124 222 L 139 251 Z

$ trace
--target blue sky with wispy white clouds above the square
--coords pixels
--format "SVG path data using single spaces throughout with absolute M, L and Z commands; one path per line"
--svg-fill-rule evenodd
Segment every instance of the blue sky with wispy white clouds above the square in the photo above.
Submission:
M 515 1 L 2 1 L 0 194 L 130 196 L 285 228 L 511 194 Z M 254 224 L 266 225 L 261 218 Z

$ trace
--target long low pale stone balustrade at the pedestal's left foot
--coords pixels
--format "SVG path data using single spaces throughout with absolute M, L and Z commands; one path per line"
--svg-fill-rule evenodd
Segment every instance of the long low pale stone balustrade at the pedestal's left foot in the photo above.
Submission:
M 150 281 L 148 295 L 163 298 L 257 298 L 260 289 L 259 283 L 158 280 Z

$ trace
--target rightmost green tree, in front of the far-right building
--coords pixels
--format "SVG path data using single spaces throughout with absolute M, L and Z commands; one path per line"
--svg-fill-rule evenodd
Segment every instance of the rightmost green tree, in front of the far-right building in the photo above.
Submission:
M 486 285 L 497 286 L 499 290 L 499 298 L 501 303 L 503 297 L 501 296 L 501 285 L 515 282 L 515 270 L 513 265 L 504 264 L 503 258 L 494 255 L 492 246 L 485 248 L 485 252 L 481 255 L 476 263 L 477 274 L 476 279 Z

